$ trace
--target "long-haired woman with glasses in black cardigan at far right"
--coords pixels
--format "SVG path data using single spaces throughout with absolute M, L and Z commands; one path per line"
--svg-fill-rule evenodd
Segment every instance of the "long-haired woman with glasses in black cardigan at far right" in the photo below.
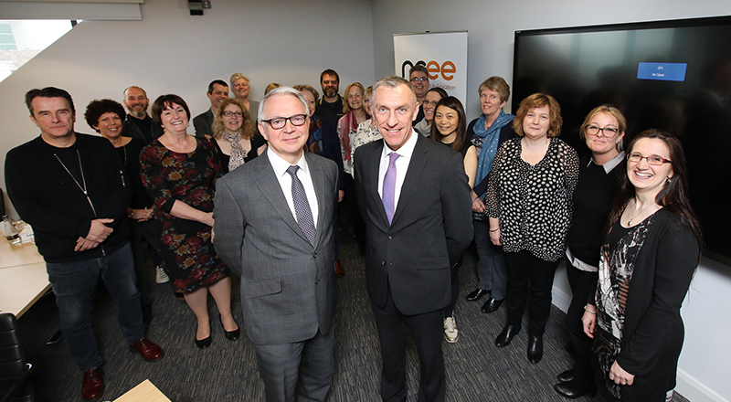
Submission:
M 595 301 L 584 332 L 594 338 L 609 399 L 663 402 L 683 347 L 680 308 L 703 238 L 687 199 L 681 143 L 658 130 L 630 143 L 627 175 L 609 214 Z

